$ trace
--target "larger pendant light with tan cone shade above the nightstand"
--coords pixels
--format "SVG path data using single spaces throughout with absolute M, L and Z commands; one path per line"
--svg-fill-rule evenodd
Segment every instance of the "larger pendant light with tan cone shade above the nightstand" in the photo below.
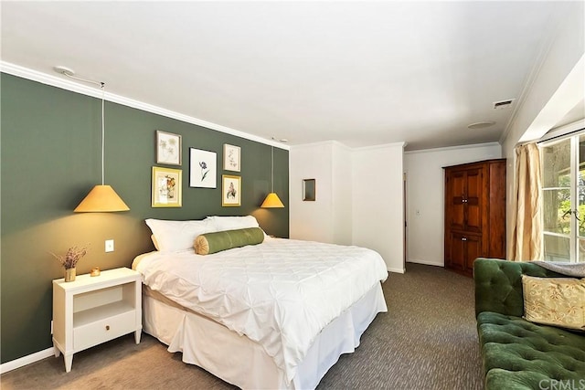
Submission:
M 97 84 L 101 88 L 101 184 L 95 185 L 90 193 L 85 196 L 80 205 L 73 210 L 76 213 L 108 213 L 114 211 L 128 211 L 128 207 L 122 198 L 116 194 L 111 185 L 104 184 L 104 150 L 105 150 L 105 121 L 104 98 L 105 83 L 90 79 L 81 79 L 74 76 L 73 70 L 65 67 L 55 67 L 55 71 L 70 79 L 78 79 L 84 82 Z

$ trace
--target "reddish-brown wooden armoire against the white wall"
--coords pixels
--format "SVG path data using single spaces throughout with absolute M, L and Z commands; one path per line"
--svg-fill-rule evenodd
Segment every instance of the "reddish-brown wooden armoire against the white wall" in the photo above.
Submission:
M 445 268 L 473 276 L 475 258 L 505 258 L 505 159 L 443 169 Z

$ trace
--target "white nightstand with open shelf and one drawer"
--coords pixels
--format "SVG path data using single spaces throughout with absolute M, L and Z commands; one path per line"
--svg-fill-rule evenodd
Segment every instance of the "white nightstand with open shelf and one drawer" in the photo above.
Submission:
M 73 353 L 134 332 L 140 343 L 142 280 L 133 269 L 108 269 L 74 281 L 53 280 L 53 347 L 71 371 Z

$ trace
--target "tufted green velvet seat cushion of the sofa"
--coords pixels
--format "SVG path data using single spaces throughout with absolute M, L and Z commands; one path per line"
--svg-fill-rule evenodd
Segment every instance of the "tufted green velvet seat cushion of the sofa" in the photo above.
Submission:
M 486 389 L 537 389 L 585 378 L 585 337 L 520 317 L 484 311 L 477 316 Z M 544 381 L 544 382 L 543 382 Z

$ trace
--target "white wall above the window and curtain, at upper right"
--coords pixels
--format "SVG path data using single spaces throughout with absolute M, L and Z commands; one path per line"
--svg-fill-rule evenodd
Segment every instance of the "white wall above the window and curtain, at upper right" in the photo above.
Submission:
M 543 53 L 535 71 L 528 80 L 526 97 L 517 107 L 501 140 L 507 158 L 506 218 L 508 244 L 510 243 L 510 215 L 514 188 L 516 144 L 522 140 L 537 140 L 557 121 L 583 100 L 585 79 L 585 5 L 583 2 L 559 3 L 562 21 L 556 27 L 548 51 Z

